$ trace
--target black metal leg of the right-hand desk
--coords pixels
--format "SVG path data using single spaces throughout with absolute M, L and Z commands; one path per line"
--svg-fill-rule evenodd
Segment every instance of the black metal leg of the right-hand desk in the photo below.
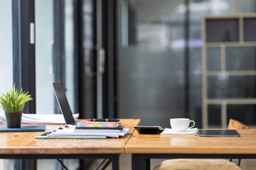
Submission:
M 150 170 L 150 159 L 142 154 L 132 154 L 132 170 Z

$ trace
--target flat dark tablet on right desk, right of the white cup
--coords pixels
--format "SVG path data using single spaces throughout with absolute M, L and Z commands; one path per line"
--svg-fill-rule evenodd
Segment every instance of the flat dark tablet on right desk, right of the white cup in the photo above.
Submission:
M 236 130 L 199 130 L 201 137 L 240 137 Z

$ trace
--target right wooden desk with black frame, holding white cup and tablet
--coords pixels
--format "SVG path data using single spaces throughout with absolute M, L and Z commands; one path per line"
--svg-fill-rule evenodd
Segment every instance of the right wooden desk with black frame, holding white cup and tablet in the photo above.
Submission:
M 240 137 L 171 137 L 135 131 L 124 147 L 132 153 L 132 169 L 150 169 L 150 159 L 256 159 L 256 130 L 238 130 Z

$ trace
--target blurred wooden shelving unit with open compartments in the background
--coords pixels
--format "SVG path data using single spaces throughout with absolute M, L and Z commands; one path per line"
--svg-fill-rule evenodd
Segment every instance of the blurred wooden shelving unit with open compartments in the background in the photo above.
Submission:
M 208 105 L 221 106 L 221 126 L 227 128 L 227 105 L 256 104 L 256 98 L 208 98 L 208 77 L 256 76 L 256 70 L 228 70 L 226 68 L 227 47 L 256 47 L 256 14 L 235 16 L 205 16 L 202 18 L 202 120 L 208 128 Z M 207 50 L 220 48 L 220 70 L 208 71 Z

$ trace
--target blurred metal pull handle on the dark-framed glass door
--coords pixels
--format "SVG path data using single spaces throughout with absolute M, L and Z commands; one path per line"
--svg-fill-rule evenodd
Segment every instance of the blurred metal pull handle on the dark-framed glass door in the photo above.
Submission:
M 92 71 L 90 67 L 90 58 L 92 51 L 96 50 L 97 69 Z M 89 76 L 101 76 L 105 70 L 105 50 L 100 45 L 85 49 L 85 73 Z

